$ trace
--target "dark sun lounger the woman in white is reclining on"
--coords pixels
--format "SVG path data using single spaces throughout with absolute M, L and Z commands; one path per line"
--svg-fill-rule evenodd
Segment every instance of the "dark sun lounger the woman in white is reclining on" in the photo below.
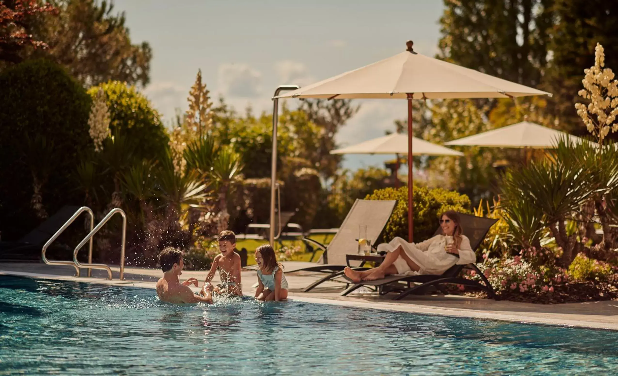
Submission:
M 462 221 L 462 228 L 464 228 L 464 235 L 468 236 L 470 239 L 470 245 L 472 249 L 476 251 L 476 248 L 481 244 L 485 236 L 489 232 L 489 228 L 493 226 L 497 222 L 496 219 L 485 218 L 485 217 L 476 217 L 475 215 L 458 213 L 460 215 L 460 219 Z M 435 235 L 439 235 L 442 233 L 442 228 L 438 228 L 436 230 Z M 472 269 L 475 270 L 476 274 L 479 275 L 481 280 L 483 280 L 484 285 L 473 280 L 469 280 L 464 277 L 460 277 L 462 270 L 464 269 Z M 362 281 L 360 283 L 353 282 L 350 278 L 343 277 L 345 281 L 352 284 L 349 288 L 345 289 L 341 293 L 341 295 L 345 296 L 351 293 L 357 288 L 361 286 L 373 286 L 378 289 L 380 295 L 385 295 L 392 291 L 399 292 L 394 300 L 399 300 L 405 298 L 412 293 L 420 293 L 421 291 L 426 290 L 427 288 L 437 288 L 441 290 L 441 286 L 443 283 L 456 283 L 458 285 L 472 286 L 476 288 L 480 288 L 483 291 L 486 291 L 490 298 L 496 299 L 496 292 L 491 287 L 491 284 L 483 275 L 481 270 L 476 267 L 475 264 L 468 265 L 453 265 L 450 269 L 446 270 L 441 275 L 388 275 L 386 278 L 381 278 L 375 281 Z

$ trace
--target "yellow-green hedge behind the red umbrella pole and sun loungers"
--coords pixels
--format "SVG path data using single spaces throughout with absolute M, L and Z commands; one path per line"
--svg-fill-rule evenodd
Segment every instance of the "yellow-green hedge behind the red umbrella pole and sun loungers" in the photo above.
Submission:
M 397 206 L 384 229 L 383 241 L 391 241 L 396 236 L 408 238 L 408 187 L 399 189 L 384 188 L 368 194 L 365 199 L 397 200 Z M 438 228 L 438 216 L 447 210 L 470 212 L 470 199 L 465 194 L 447 191 L 442 188 L 423 188 L 415 186 L 414 201 L 414 240 L 430 238 Z

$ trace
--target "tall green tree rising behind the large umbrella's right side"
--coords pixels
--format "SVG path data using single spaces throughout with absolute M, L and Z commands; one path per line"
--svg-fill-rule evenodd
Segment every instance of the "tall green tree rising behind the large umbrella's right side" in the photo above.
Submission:
M 523 85 L 539 85 L 548 64 L 553 2 L 444 0 L 438 57 Z

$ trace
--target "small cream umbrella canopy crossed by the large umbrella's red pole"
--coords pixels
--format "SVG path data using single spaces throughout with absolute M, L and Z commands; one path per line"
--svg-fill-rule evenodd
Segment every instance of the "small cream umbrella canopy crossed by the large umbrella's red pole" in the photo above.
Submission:
M 412 137 L 414 156 L 463 156 L 464 153 Z M 408 154 L 408 135 L 392 133 L 336 149 L 331 154 Z

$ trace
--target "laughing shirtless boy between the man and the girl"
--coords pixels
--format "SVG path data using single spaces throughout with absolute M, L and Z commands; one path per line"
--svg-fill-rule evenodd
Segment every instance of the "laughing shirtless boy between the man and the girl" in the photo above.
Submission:
M 236 248 L 236 235 L 234 232 L 225 230 L 219 234 L 219 251 L 214 257 L 210 272 L 206 275 L 204 285 L 210 285 L 217 269 L 221 283 L 214 287 L 215 294 L 242 296 L 242 285 L 240 284 L 240 255 L 234 252 Z

